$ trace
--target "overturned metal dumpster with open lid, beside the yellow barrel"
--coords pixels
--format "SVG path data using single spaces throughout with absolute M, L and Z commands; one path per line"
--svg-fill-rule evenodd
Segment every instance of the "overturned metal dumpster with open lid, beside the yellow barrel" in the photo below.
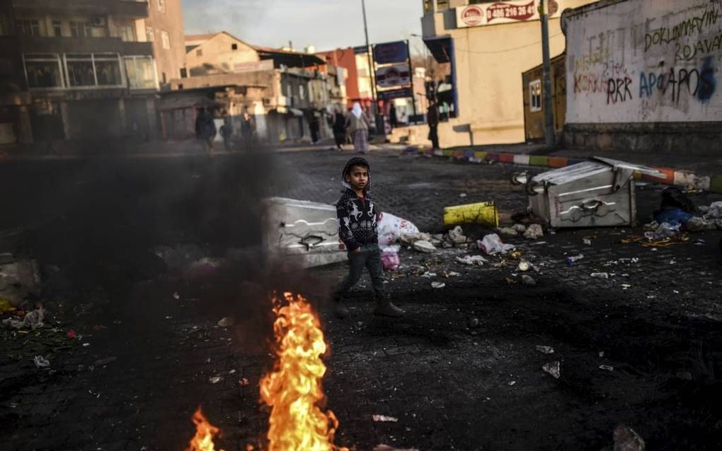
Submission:
M 593 157 L 531 178 L 529 209 L 552 227 L 635 225 L 635 172 L 666 178 L 651 167 Z

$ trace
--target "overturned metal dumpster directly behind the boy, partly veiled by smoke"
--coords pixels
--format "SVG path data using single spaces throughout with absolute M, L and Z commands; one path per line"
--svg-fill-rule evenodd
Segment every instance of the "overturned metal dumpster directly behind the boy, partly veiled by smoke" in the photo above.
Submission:
M 310 268 L 347 259 L 336 208 L 289 198 L 264 200 L 263 243 L 277 268 Z

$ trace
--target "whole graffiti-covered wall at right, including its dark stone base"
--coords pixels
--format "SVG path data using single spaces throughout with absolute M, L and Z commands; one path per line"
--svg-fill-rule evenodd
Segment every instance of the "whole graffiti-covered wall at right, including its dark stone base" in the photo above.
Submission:
M 566 146 L 720 153 L 721 1 L 606 0 L 564 23 Z

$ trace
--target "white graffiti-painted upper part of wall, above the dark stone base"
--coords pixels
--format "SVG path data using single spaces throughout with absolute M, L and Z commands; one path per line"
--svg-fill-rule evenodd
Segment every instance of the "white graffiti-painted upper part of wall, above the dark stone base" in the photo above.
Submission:
M 630 0 L 567 20 L 566 123 L 722 121 L 722 1 Z

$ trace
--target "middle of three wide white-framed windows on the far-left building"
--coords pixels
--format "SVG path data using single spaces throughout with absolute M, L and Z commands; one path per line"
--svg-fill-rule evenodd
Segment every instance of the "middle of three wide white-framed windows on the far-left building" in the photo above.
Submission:
M 123 85 L 117 53 L 67 53 L 65 67 L 69 87 Z

